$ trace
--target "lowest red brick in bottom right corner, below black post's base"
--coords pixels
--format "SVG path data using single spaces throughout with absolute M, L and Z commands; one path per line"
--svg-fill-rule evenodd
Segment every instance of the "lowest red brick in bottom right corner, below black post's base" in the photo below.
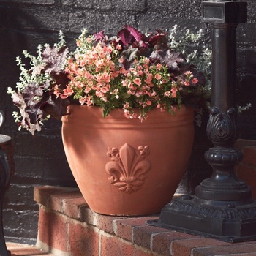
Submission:
M 196 246 L 198 247 L 198 246 Z M 203 246 L 200 246 L 203 247 Z M 248 253 L 253 253 L 256 255 L 256 243 L 248 242 L 248 243 L 241 243 L 241 244 L 228 244 L 225 243 L 224 246 L 211 246 L 206 248 L 196 248 L 193 250 L 193 256 L 202 256 L 202 255 L 243 255 L 247 256 Z M 252 254 L 252 255 L 253 255 Z M 181 256 L 181 255 L 179 255 Z

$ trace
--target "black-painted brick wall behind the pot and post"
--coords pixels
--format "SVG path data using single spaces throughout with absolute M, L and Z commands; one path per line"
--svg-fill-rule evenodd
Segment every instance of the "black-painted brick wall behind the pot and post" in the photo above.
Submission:
M 12 136 L 15 146 L 15 176 L 4 203 L 5 234 L 13 239 L 34 239 L 37 236 L 38 207 L 33 201 L 33 187 L 50 184 L 75 186 L 61 145 L 61 123 L 50 121 L 34 138 L 17 131 L 12 118 L 7 86 L 15 86 L 18 67 L 15 57 L 22 50 L 35 52 L 39 43 L 53 43 L 61 29 L 69 47 L 86 27 L 89 33 L 105 30 L 116 34 L 124 24 L 143 32 L 178 24 L 182 29 L 204 29 L 200 20 L 201 0 L 0 0 L 0 109 L 6 114 L 1 133 Z M 249 20 L 238 28 L 238 103 L 253 102 L 256 67 L 256 3 L 248 1 Z M 209 34 L 209 33 L 208 33 Z M 206 37 L 206 42 L 208 42 Z M 241 118 L 241 137 L 256 139 L 256 108 Z M 204 126 L 197 129 L 192 159 L 181 189 L 193 191 L 209 167 L 203 159 L 211 146 Z M 198 165 L 200 163 L 200 165 Z M 32 240 L 33 241 L 33 240 Z

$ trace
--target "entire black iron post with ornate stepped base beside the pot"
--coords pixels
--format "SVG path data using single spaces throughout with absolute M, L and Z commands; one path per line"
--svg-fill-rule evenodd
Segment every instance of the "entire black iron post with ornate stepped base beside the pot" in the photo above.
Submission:
M 246 2 L 203 1 L 203 20 L 212 23 L 212 101 L 207 135 L 214 147 L 205 158 L 213 169 L 196 187 L 195 195 L 184 195 L 162 208 L 157 221 L 148 225 L 227 242 L 256 240 L 256 202 L 252 189 L 238 180 L 234 166 L 241 151 L 237 139 L 236 27 L 246 22 Z

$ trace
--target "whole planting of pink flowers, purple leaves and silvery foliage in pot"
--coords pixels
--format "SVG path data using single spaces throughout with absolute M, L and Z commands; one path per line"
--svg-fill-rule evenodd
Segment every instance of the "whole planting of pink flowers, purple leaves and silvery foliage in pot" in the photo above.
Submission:
M 53 48 L 39 45 L 37 56 L 24 51 L 31 68 L 18 58 L 17 90 L 8 89 L 20 109 L 14 113 L 19 127 L 34 134 L 44 119 L 64 116 L 68 105 L 79 103 L 99 106 L 103 116 L 121 108 L 126 118 L 140 121 L 146 121 L 152 108 L 169 113 L 181 104 L 198 108 L 208 97 L 206 78 L 181 53 L 174 32 L 168 38 L 162 31 L 142 34 L 124 26 L 109 38 L 103 31 L 87 36 L 83 30 L 73 53 L 62 33 Z M 193 54 L 188 57 L 193 59 Z

